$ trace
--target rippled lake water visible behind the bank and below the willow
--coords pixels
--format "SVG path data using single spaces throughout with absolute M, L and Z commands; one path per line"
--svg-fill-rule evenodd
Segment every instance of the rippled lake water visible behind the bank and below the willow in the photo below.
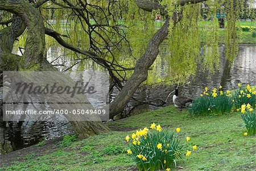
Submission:
M 221 62 L 220 72 L 216 72 L 209 77 L 208 73 L 198 70 L 196 77 L 190 80 L 190 84 L 180 87 L 180 94 L 191 98 L 199 97 L 205 86 L 209 89 L 222 85 L 224 89 L 233 89 L 237 87 L 238 82 L 243 85 L 256 85 L 256 46 L 240 45 L 238 57 L 234 59 L 229 67 L 229 62 L 225 59 L 225 47 L 220 47 Z M 173 86 L 154 86 L 146 88 L 135 94 L 135 97 L 142 101 L 148 101 L 155 98 L 166 99 L 172 91 Z M 112 98 L 118 91 L 113 91 Z M 2 95 L 0 93 L 0 98 Z M 90 99 L 91 103 L 96 103 Z M 172 102 L 172 97 L 167 101 L 167 105 Z M 136 104 L 131 101 L 127 105 L 127 111 Z M 143 105 L 141 109 L 155 109 L 155 106 Z M 71 125 L 68 122 L 20 122 L 20 123 L 0 123 L 0 154 L 16 149 L 28 147 L 42 140 L 54 139 L 65 134 L 72 134 Z

